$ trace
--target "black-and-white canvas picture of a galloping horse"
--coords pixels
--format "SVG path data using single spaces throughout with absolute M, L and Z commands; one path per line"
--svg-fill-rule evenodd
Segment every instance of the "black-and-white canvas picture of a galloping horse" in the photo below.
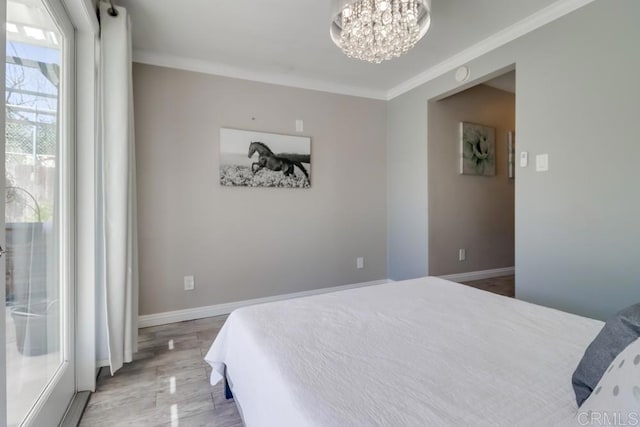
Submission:
M 311 187 L 311 138 L 220 129 L 220 185 Z

